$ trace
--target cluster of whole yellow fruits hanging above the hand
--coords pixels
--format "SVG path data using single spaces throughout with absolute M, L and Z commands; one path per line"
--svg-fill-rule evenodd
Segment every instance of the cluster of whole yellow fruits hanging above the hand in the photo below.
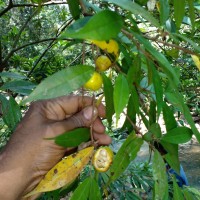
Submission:
M 100 73 L 108 70 L 112 66 L 112 61 L 108 55 L 110 54 L 117 58 L 119 56 L 119 46 L 118 43 L 112 39 L 108 42 L 92 40 L 92 43 L 106 53 L 105 55 L 97 57 L 95 60 L 95 72 L 84 85 L 84 88 L 86 89 L 97 91 L 103 84 L 103 79 Z

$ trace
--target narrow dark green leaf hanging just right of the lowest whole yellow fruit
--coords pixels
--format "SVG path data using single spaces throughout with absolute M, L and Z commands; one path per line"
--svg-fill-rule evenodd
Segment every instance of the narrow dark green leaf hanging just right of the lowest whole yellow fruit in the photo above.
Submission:
M 112 116 L 114 114 L 114 103 L 113 103 L 113 85 L 105 74 L 102 74 L 103 78 L 103 91 L 105 95 L 106 102 L 106 118 L 108 120 L 108 124 L 111 127 L 112 125 Z

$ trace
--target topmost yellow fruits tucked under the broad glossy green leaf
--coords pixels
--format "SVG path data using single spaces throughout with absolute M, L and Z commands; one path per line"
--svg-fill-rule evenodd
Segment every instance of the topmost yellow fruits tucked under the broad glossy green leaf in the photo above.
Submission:
M 116 57 L 119 56 L 119 45 L 115 40 L 109 40 L 108 42 L 92 40 L 92 43 L 108 53 L 113 53 Z

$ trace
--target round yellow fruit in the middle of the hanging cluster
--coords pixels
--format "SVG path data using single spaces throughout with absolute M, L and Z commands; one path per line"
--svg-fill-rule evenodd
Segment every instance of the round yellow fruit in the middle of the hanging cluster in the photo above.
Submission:
M 108 56 L 99 56 L 96 61 L 96 68 L 98 71 L 103 72 L 106 71 L 111 65 L 111 60 L 108 58 Z

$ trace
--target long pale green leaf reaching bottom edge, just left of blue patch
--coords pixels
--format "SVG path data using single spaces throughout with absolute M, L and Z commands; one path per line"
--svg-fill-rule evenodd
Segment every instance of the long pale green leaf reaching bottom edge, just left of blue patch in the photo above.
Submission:
M 156 150 L 153 157 L 154 200 L 168 200 L 168 181 L 165 162 Z

